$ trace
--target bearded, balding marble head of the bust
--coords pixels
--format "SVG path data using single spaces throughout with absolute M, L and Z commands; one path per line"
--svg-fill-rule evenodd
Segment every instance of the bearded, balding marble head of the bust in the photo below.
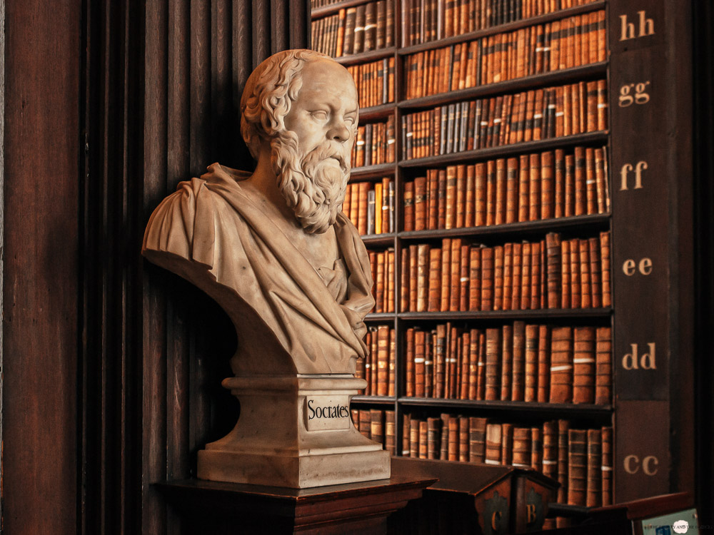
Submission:
M 335 223 L 357 132 L 352 76 L 329 56 L 278 52 L 251 74 L 241 98 L 241 133 L 253 158 L 269 154 L 278 189 L 310 233 Z

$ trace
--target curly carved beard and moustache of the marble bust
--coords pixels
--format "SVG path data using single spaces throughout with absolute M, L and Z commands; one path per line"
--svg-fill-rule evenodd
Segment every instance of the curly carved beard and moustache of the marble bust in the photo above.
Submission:
M 326 141 L 303 154 L 291 131 L 271 141 L 271 163 L 278 189 L 308 233 L 322 234 L 337 220 L 350 178 L 349 154 L 343 146 Z

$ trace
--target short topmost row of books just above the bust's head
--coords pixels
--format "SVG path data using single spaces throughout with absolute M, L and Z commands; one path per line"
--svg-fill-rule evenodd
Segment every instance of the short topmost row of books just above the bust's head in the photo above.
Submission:
M 394 46 L 393 2 L 372 1 L 312 21 L 313 50 L 338 58 Z

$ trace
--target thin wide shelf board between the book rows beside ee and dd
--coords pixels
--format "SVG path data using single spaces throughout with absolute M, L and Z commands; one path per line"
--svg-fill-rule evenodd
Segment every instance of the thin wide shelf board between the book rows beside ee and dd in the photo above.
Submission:
M 553 320 L 556 318 L 610 317 L 608 308 L 546 308 L 537 310 L 469 310 L 468 312 L 399 312 L 400 320 Z

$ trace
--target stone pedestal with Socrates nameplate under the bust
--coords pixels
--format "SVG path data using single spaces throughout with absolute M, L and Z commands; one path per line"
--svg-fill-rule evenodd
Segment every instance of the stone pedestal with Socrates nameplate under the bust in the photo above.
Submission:
M 350 397 L 366 382 L 351 375 L 230 377 L 238 424 L 198 452 L 198 478 L 304 489 L 388 479 L 389 453 L 363 437 Z

